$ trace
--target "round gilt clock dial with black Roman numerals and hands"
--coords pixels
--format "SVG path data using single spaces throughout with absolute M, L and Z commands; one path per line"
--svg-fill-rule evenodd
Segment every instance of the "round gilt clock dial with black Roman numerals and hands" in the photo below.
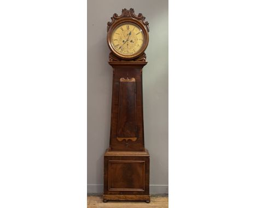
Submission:
M 132 56 L 139 52 L 143 42 L 143 30 L 133 23 L 118 25 L 111 36 L 111 44 L 114 50 L 123 56 Z

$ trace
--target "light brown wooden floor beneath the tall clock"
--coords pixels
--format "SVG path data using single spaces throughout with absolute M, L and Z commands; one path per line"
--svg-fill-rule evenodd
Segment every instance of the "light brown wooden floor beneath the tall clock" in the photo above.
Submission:
M 108 201 L 103 203 L 102 196 L 91 195 L 87 197 L 87 208 L 167 208 L 168 207 L 168 197 L 150 197 L 150 203 L 144 201 Z

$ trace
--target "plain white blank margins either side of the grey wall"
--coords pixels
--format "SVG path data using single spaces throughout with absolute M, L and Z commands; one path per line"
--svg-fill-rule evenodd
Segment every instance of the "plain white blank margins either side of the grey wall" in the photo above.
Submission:
M 170 207 L 254 208 L 255 1 L 169 6 Z M 1 1 L 0 26 L 0 207 L 84 208 L 86 2 Z

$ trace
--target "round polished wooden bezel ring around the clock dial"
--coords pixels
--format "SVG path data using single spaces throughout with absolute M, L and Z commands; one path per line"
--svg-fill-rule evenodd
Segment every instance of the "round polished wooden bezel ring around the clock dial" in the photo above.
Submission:
M 127 23 L 127 24 L 131 23 L 131 24 L 137 25 L 137 27 L 141 28 L 143 31 L 144 41 L 143 41 L 142 47 L 135 54 L 132 54 L 132 55 L 125 55 L 125 54 L 118 53 L 117 51 L 115 51 L 114 47 L 111 44 L 111 37 L 112 37 L 112 33 L 114 32 L 114 29 L 119 25 L 123 25 L 124 23 Z M 147 28 L 144 26 L 144 24 L 141 21 L 138 21 L 134 18 L 126 17 L 126 18 L 119 19 L 115 21 L 113 25 L 111 25 L 108 29 L 108 34 L 107 34 L 108 47 L 116 56 L 123 59 L 133 59 L 140 56 L 146 50 L 148 46 L 148 41 L 149 41 L 149 36 L 148 36 Z

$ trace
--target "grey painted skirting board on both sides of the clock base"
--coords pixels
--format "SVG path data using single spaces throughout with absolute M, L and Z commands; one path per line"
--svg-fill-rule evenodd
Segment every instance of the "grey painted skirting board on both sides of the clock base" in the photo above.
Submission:
M 149 185 L 150 194 L 166 194 L 168 193 L 168 185 Z M 103 184 L 87 185 L 87 193 L 102 194 Z

